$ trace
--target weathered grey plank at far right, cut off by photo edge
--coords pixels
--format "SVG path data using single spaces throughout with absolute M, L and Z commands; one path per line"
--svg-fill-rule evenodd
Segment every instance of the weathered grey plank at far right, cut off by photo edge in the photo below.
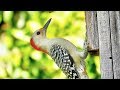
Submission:
M 120 79 L 120 12 L 110 11 L 114 78 Z

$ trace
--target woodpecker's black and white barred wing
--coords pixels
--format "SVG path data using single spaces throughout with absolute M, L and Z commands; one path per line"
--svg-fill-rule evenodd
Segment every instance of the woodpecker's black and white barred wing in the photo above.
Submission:
M 53 45 L 50 49 L 50 54 L 58 67 L 69 79 L 80 78 L 76 70 L 73 58 L 65 48 L 62 48 L 60 45 Z

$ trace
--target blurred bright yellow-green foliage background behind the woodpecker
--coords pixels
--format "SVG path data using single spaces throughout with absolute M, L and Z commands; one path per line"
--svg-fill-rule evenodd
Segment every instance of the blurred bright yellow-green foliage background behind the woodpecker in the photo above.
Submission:
M 84 11 L 0 11 L 0 78 L 66 79 L 50 56 L 30 46 L 33 32 L 52 18 L 47 37 L 61 37 L 82 50 L 86 23 Z M 100 78 L 98 56 L 88 55 L 87 73 Z

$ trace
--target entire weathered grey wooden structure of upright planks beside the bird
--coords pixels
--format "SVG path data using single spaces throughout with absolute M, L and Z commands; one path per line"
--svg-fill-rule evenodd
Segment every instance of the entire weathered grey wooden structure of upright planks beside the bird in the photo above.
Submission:
M 99 49 L 101 78 L 120 79 L 120 12 L 86 11 L 86 27 L 91 50 Z

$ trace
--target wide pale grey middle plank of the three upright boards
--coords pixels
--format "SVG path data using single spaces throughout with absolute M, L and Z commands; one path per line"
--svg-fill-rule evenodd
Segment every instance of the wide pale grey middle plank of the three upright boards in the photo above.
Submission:
M 101 78 L 113 79 L 110 20 L 108 11 L 97 11 Z

